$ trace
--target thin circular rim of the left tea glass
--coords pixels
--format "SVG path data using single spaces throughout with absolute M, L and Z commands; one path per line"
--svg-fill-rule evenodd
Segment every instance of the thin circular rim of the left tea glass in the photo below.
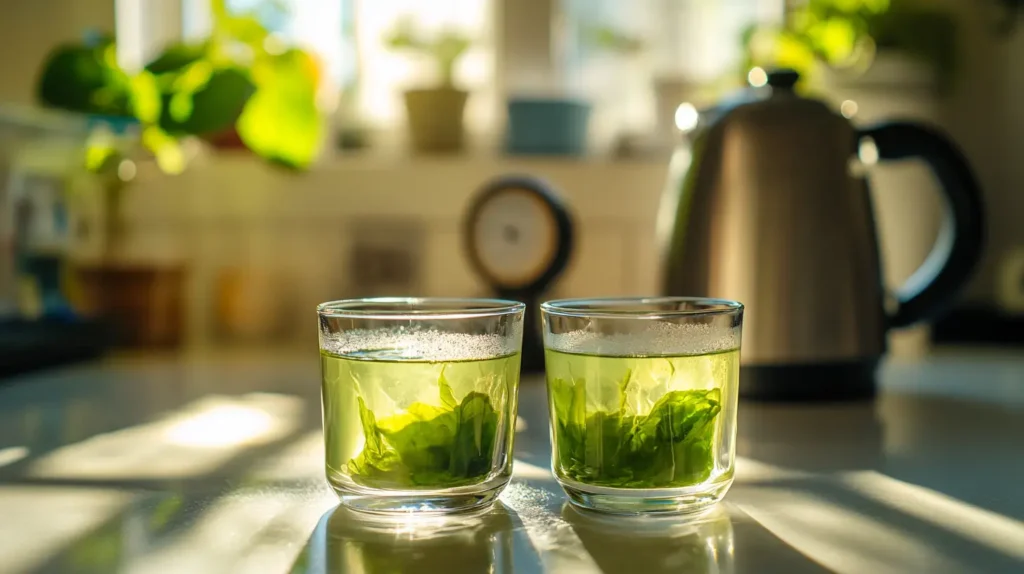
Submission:
M 524 303 L 507 299 L 459 297 L 368 297 L 339 299 L 316 306 L 327 318 L 416 320 L 471 319 L 522 313 Z

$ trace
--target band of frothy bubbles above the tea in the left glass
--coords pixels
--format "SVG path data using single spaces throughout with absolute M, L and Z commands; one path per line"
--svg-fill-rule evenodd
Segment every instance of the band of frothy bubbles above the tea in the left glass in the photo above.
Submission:
M 515 338 L 436 329 L 352 329 L 321 332 L 321 349 L 332 355 L 395 361 L 466 361 L 510 355 Z

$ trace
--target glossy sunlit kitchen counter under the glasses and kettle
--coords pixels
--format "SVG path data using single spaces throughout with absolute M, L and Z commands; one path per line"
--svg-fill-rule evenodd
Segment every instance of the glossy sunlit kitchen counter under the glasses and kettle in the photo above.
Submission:
M 889 362 L 871 403 L 741 403 L 736 483 L 691 521 L 569 507 L 538 378 L 489 513 L 338 510 L 316 369 L 222 353 L 5 382 L 0 572 L 1024 572 L 1019 352 Z

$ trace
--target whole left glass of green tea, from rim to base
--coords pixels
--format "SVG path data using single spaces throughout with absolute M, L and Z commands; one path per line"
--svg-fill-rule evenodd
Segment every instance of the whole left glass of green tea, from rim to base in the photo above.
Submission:
M 327 479 L 346 506 L 451 513 L 512 476 L 522 303 L 360 299 L 319 318 Z

